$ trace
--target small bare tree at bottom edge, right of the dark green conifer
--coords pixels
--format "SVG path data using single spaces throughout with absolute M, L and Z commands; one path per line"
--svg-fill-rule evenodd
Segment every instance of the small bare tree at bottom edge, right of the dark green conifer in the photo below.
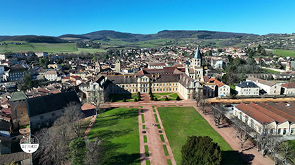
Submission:
M 86 141 L 86 159 L 85 159 L 85 164 L 89 165 L 98 165 L 102 164 L 101 162 L 101 157 L 102 155 L 102 150 L 103 147 L 101 146 L 102 141 L 100 141 L 98 138 L 94 139 L 93 142 L 87 140 Z

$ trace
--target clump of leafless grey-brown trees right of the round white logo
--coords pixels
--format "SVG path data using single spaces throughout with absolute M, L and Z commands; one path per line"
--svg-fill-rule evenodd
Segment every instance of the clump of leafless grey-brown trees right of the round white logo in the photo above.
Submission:
M 52 127 L 37 132 L 40 147 L 34 157 L 39 157 L 40 164 L 68 163 L 69 144 L 73 138 L 81 136 L 81 127 L 77 124 L 83 117 L 80 107 L 79 104 L 70 103 Z

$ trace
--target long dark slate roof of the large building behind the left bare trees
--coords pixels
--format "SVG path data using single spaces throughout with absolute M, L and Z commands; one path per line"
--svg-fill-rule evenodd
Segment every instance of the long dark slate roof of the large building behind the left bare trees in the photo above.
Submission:
M 33 117 L 63 109 L 70 102 L 80 103 L 79 97 L 75 91 L 48 94 L 46 96 L 27 99 L 27 110 L 29 117 Z

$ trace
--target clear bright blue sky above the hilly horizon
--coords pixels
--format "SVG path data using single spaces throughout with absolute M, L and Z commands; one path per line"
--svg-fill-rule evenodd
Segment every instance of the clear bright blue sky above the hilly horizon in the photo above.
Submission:
M 291 34 L 295 32 L 295 0 L 0 0 L 0 36 L 99 30 Z

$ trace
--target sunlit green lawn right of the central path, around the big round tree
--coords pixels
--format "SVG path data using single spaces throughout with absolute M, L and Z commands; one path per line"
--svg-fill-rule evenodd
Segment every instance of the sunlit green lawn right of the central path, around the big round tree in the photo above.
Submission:
M 193 107 L 158 108 L 166 136 L 177 164 L 181 164 L 181 148 L 187 136 L 210 136 L 223 150 L 222 164 L 244 164 L 237 152 L 197 113 Z

